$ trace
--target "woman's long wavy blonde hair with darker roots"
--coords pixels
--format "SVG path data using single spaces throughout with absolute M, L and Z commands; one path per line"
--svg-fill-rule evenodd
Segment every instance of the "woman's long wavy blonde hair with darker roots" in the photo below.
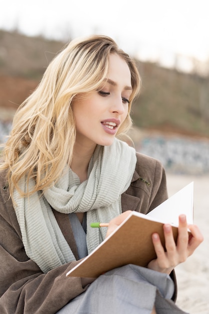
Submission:
M 140 76 L 133 60 L 107 36 L 90 36 L 71 41 L 52 60 L 36 90 L 17 110 L 13 129 L 3 151 L 0 170 L 8 169 L 7 180 L 25 197 L 49 188 L 66 164 L 71 163 L 76 125 L 71 108 L 74 97 L 97 90 L 108 77 L 109 56 L 118 54 L 131 72 L 132 93 L 127 118 L 118 130 L 132 125 L 131 104 L 140 89 Z M 23 193 L 18 183 L 35 179 L 33 191 Z

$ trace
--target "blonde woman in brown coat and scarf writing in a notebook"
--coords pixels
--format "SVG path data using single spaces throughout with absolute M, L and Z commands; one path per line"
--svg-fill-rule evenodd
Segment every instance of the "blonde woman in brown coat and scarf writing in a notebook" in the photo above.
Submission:
M 116 139 L 131 126 L 139 85 L 129 56 L 92 36 L 66 46 L 17 111 L 0 168 L 1 313 L 183 312 L 173 268 L 202 241 L 196 226 L 188 239 L 183 215 L 177 245 L 164 226 L 166 252 L 153 234 L 147 268 L 66 277 L 129 210 L 146 214 L 167 198 L 161 164 Z

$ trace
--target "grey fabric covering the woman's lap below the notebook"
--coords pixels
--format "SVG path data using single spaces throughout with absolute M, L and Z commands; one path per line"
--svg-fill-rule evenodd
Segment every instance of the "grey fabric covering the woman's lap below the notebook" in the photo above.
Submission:
M 99 276 L 88 289 L 65 305 L 59 314 L 182 314 L 170 300 L 174 284 L 169 275 L 125 265 Z

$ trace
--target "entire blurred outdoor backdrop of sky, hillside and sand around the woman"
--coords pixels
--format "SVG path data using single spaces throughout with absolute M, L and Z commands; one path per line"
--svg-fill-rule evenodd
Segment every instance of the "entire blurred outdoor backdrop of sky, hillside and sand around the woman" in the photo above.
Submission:
M 171 196 L 194 181 L 194 222 L 204 242 L 176 269 L 177 302 L 209 313 L 208 0 L 0 0 L 0 143 L 49 62 L 76 37 L 103 34 L 136 60 L 136 150 L 157 158 Z M 194 275 L 195 274 L 195 275 Z

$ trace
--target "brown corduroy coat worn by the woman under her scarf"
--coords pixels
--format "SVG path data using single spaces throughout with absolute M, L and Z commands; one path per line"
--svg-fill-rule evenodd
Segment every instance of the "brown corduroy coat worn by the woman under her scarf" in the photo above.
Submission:
M 77 261 L 44 274 L 26 255 L 5 175 L 6 172 L 0 173 L 0 313 L 56 313 L 89 284 L 87 279 L 83 287 L 80 278 L 66 277 L 66 273 L 80 262 L 68 215 L 54 211 Z M 131 185 L 121 198 L 122 211 L 146 214 L 166 198 L 166 178 L 161 164 L 137 153 Z M 174 272 L 171 276 L 175 282 Z M 174 300 L 175 297 L 176 290 Z

